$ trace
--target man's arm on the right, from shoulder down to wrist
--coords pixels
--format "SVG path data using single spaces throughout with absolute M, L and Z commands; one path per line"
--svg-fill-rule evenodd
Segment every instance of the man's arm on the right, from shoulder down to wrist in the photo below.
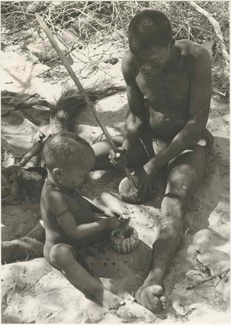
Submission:
M 206 127 L 212 94 L 211 59 L 203 48 L 192 60 L 189 120 L 172 142 L 146 164 L 151 174 L 193 145 Z

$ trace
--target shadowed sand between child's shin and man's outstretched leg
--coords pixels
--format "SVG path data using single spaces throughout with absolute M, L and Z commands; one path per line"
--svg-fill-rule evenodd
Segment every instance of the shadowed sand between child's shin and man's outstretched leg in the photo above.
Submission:
M 133 252 L 121 254 L 110 247 L 109 241 L 95 245 L 96 256 L 86 257 L 93 276 L 101 279 L 114 294 L 133 295 L 148 275 L 152 249 L 139 239 Z

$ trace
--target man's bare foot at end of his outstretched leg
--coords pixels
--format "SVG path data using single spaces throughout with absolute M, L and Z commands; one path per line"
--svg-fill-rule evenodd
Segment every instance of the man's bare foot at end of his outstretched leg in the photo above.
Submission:
M 159 284 L 143 284 L 135 294 L 137 302 L 153 313 L 160 313 L 168 306 L 168 299 L 163 296 L 163 288 Z

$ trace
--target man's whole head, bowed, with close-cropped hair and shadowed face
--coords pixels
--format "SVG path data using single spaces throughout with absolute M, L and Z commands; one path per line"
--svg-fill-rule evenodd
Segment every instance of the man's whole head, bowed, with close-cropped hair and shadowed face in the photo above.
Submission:
M 173 47 L 172 26 L 166 15 L 157 10 L 136 14 L 128 27 L 128 45 L 135 61 L 148 75 L 158 74 L 165 66 Z M 147 63 L 149 62 L 149 63 Z

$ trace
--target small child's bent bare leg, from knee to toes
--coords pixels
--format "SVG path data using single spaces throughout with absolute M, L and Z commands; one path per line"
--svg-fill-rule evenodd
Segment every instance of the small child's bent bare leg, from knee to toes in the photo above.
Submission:
M 120 306 L 121 299 L 96 281 L 77 261 L 76 251 L 68 244 L 55 244 L 49 252 L 51 264 L 84 294 L 95 299 L 106 308 Z

